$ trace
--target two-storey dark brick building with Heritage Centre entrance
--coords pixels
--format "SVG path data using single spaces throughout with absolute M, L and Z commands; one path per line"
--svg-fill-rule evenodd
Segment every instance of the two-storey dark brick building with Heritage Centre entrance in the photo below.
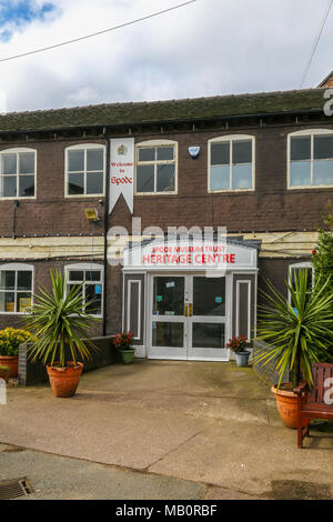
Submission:
M 226 360 L 225 340 L 255 333 L 263 278 L 285 292 L 293 271 L 312 271 L 316 225 L 333 200 L 332 79 L 310 90 L 0 116 L 0 328 L 19 325 L 61 268 L 95 299 L 92 333 L 131 329 L 141 357 Z M 133 163 L 117 202 L 124 179 L 112 173 L 112 143 L 120 158 L 130 148 Z M 206 227 L 213 242 L 226 228 L 232 264 L 215 277 L 203 264 L 138 264 L 142 240 L 151 254 L 147 240 L 164 240 L 170 227 Z

